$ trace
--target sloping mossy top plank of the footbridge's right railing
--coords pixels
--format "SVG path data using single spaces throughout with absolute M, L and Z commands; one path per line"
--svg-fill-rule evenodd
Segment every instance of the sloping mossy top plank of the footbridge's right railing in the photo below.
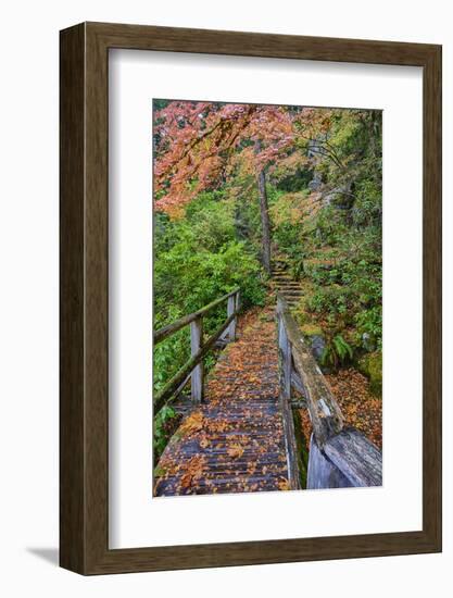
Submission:
M 341 410 L 281 295 L 277 296 L 277 312 L 291 345 L 294 369 L 305 390 L 304 396 L 316 440 L 323 447 L 328 438 L 341 432 Z

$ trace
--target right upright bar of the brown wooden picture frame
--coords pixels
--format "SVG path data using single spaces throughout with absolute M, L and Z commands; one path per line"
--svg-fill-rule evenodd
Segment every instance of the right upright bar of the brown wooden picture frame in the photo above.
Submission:
M 442 545 L 442 47 L 424 64 L 423 520 Z

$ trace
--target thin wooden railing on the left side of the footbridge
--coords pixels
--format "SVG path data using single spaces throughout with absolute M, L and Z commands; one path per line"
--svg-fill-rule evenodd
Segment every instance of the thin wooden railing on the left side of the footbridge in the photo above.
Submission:
M 214 308 L 227 302 L 227 317 L 217 331 L 207 340 L 203 340 L 203 317 Z M 200 403 L 203 399 L 203 360 L 206 353 L 218 340 L 232 341 L 236 339 L 236 321 L 239 311 L 239 288 L 224 295 L 204 308 L 185 315 L 180 320 L 164 326 L 153 335 L 154 346 L 162 342 L 185 326 L 190 325 L 190 359 L 176 372 L 165 386 L 154 397 L 154 413 L 158 413 L 166 401 L 177 396 L 191 378 L 191 399 Z

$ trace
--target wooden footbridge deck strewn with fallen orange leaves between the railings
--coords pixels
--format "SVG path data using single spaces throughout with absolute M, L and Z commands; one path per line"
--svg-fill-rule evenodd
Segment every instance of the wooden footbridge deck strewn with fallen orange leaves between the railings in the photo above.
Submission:
M 154 496 L 287 490 L 274 307 L 239 324 L 154 472 Z

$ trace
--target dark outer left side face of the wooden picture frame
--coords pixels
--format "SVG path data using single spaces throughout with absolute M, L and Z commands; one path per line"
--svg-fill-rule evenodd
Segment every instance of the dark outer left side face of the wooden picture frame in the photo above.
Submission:
M 60 60 L 60 564 L 85 568 L 84 26 Z

